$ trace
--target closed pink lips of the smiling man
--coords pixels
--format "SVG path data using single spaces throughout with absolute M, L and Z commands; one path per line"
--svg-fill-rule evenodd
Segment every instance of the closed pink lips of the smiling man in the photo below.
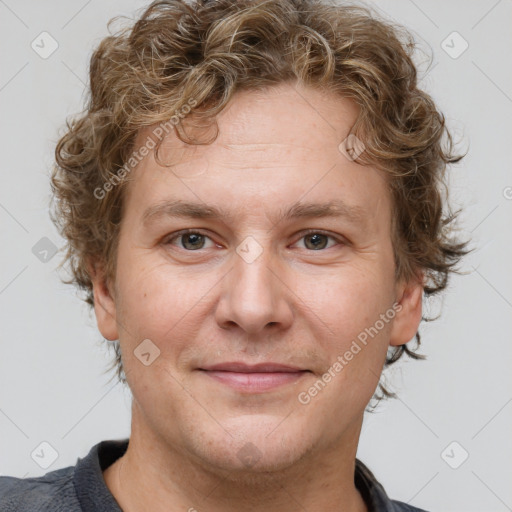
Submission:
M 293 384 L 311 373 L 309 370 L 277 363 L 248 365 L 241 362 L 220 363 L 199 370 L 221 384 L 248 393 L 262 393 Z

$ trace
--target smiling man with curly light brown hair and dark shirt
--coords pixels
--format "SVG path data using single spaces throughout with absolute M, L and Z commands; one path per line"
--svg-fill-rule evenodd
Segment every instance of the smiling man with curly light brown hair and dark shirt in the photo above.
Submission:
M 2 477 L 0 510 L 419 510 L 356 460 L 464 254 L 440 192 L 460 157 L 410 51 L 314 0 L 155 2 L 102 41 L 54 219 L 131 436 Z

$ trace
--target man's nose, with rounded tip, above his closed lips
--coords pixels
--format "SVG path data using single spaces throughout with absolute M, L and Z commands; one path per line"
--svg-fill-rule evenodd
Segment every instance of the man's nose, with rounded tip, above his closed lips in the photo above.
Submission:
M 288 328 L 293 321 L 293 294 L 285 284 L 283 267 L 272 261 L 270 249 L 265 248 L 254 261 L 238 253 L 233 260 L 233 268 L 220 284 L 217 324 L 223 329 L 238 326 L 247 334 Z

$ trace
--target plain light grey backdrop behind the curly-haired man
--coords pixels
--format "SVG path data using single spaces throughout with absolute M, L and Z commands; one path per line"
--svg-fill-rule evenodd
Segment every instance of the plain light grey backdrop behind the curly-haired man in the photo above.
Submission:
M 111 355 L 94 317 L 56 272 L 62 240 L 48 176 L 108 20 L 144 5 L 0 0 L 0 474 L 74 465 L 93 444 L 130 432 L 130 394 L 104 373 Z M 431 305 L 442 316 L 421 328 L 427 361 L 389 373 L 398 399 L 367 415 L 358 457 L 394 499 L 432 511 L 512 510 L 512 2 L 372 5 L 413 32 L 425 52 L 422 86 L 469 150 L 450 181 L 475 251 Z M 31 456 L 42 442 L 55 450 L 47 469 Z

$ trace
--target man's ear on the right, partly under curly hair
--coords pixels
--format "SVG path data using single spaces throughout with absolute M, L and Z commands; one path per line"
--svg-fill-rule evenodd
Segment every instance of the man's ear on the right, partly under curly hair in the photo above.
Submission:
M 391 328 L 389 344 L 404 345 L 411 341 L 421 322 L 423 300 L 423 273 L 397 286 L 396 315 Z

